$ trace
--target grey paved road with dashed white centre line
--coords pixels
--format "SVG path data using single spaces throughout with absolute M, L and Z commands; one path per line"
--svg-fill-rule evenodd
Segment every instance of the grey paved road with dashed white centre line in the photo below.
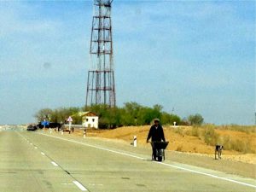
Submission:
M 43 134 L 0 132 L 0 191 L 256 191 L 253 179 Z

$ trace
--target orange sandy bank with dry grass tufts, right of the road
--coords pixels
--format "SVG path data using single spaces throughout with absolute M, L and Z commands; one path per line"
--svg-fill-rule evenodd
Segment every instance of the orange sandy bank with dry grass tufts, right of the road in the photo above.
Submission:
M 121 139 L 132 143 L 133 136 L 137 136 L 137 145 L 149 146 L 146 143 L 150 126 L 130 126 L 113 130 L 88 130 L 87 137 L 104 137 Z M 216 144 L 224 145 L 224 158 L 256 163 L 256 133 L 254 127 L 247 131 L 244 127 L 205 125 L 164 126 L 166 140 L 169 141 L 168 150 L 197 154 L 214 154 Z M 241 131 L 242 130 L 242 131 Z M 76 132 L 81 137 L 83 132 Z

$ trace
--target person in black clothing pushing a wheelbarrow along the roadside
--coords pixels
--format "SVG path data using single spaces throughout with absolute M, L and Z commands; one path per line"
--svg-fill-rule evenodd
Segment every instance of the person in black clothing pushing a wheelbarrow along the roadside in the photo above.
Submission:
M 150 138 L 151 138 L 151 142 L 161 142 L 162 140 L 166 142 L 163 128 L 160 125 L 160 119 L 154 119 L 154 125 L 151 126 L 148 132 L 147 143 Z M 153 146 L 152 146 L 152 151 L 153 151 L 153 158 L 154 160 L 156 160 L 156 149 L 153 148 Z

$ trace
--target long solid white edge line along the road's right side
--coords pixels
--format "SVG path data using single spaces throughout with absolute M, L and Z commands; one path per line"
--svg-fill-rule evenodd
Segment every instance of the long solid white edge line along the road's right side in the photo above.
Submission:
M 47 136 L 47 137 L 55 137 L 55 136 L 48 136 L 48 135 L 45 135 L 43 133 L 39 133 L 41 135 L 44 135 L 44 136 Z M 119 152 L 119 151 L 114 151 L 112 149 L 109 149 L 109 148 L 102 148 L 102 147 L 98 147 L 98 146 L 95 146 L 95 145 L 91 145 L 91 144 L 87 144 L 87 143 L 80 143 L 80 142 L 76 142 L 76 141 L 73 141 L 73 140 L 69 140 L 69 139 L 66 139 L 66 138 L 61 138 L 61 137 L 55 137 L 57 139 L 60 139 L 60 140 L 64 140 L 64 141 L 67 141 L 67 142 L 72 142 L 72 143 L 78 143 L 78 144 L 81 144 L 81 145 L 84 145 L 84 146 L 88 146 L 88 147 L 91 147 L 91 148 L 98 148 L 98 149 L 102 149 L 102 150 L 105 150 L 105 151 L 109 151 L 109 152 L 112 152 L 114 154 L 122 154 L 122 155 L 125 155 L 125 156 L 129 156 L 129 157 L 133 157 L 133 158 L 136 158 L 136 159 L 139 159 L 139 160 L 146 160 L 142 157 L 138 157 L 136 155 L 133 155 L 133 154 L 125 154 L 123 152 Z M 193 169 L 188 169 L 188 168 L 183 168 L 182 166 L 172 166 L 170 164 L 166 164 L 166 163 L 163 163 L 163 162 L 157 162 L 157 161 L 153 161 L 154 163 L 158 163 L 158 164 L 161 164 L 163 166 L 171 166 L 172 168 L 176 168 L 176 169 L 179 169 L 179 170 L 183 170 L 183 171 L 187 171 L 187 172 L 193 172 L 193 173 L 197 173 L 197 174 L 200 174 L 200 175 L 204 175 L 204 176 L 208 176 L 208 177 L 214 177 L 214 178 L 218 178 L 218 179 L 221 179 L 221 180 L 224 180 L 224 181 L 228 181 L 228 182 L 231 182 L 231 183 L 237 183 L 237 184 L 241 184 L 241 185 L 245 185 L 247 187 L 252 187 L 252 188 L 255 188 L 256 189 L 256 185 L 253 185 L 253 184 L 249 184 L 249 183 L 243 183 L 243 182 L 239 182 L 239 181 L 236 181 L 234 179 L 230 179 L 230 178 L 226 178 L 226 177 L 218 177 L 216 175 L 213 175 L 213 174 L 210 174 L 210 173 L 206 173 L 206 172 L 198 172 L 198 171 L 195 171 Z

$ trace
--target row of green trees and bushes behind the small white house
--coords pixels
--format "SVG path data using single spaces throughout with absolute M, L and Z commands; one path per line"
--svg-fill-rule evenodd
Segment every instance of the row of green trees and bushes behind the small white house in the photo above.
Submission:
M 38 121 L 48 119 L 51 122 L 65 122 L 68 116 L 73 117 L 73 124 L 82 124 L 79 112 L 91 111 L 99 116 L 100 128 L 114 128 L 131 125 L 150 125 L 154 118 L 160 119 L 162 125 L 193 125 L 191 117 L 196 119 L 196 125 L 201 125 L 203 119 L 200 114 L 190 115 L 188 119 L 181 119 L 177 114 L 166 113 L 160 105 L 153 108 L 145 107 L 137 102 L 126 102 L 122 108 L 106 108 L 104 105 L 94 105 L 89 108 L 44 108 L 35 114 Z M 198 120 L 198 116 L 200 120 Z M 193 121 L 193 119 L 192 119 Z

